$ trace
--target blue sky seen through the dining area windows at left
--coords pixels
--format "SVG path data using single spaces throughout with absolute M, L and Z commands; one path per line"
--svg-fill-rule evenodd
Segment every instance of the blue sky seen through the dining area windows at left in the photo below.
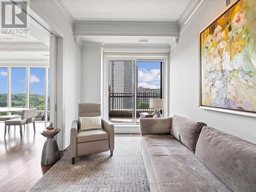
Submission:
M 0 68 L 0 93 L 7 93 L 7 68 Z M 11 69 L 11 93 L 26 93 L 26 69 Z M 45 68 L 30 69 L 30 94 L 45 94 Z

